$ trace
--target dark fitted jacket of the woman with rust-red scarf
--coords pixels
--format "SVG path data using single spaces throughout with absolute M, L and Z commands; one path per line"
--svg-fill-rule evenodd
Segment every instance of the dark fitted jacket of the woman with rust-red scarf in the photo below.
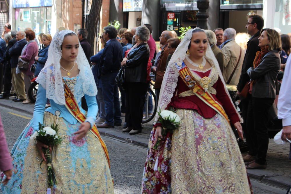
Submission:
M 253 83 L 252 96 L 256 98 L 276 98 L 276 77 L 280 70 L 281 58 L 278 50 L 269 51 L 255 69 L 250 67 L 246 73 Z

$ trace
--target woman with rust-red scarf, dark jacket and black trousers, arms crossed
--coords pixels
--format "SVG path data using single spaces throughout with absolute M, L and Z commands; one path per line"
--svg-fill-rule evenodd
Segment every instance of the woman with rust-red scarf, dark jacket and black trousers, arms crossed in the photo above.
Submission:
M 259 47 L 253 67 L 247 70 L 251 78 L 249 93 L 252 101 L 249 103 L 247 128 L 253 128 L 250 144 L 253 150 L 253 161 L 248 162 L 247 169 L 265 169 L 269 144 L 267 123 L 268 111 L 276 98 L 276 77 L 280 70 L 281 38 L 273 29 L 262 29 Z M 249 153 L 250 154 L 250 153 Z

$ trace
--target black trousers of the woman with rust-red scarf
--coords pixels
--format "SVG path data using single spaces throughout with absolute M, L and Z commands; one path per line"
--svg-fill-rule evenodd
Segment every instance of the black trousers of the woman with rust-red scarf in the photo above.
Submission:
M 274 103 L 273 98 L 255 98 L 249 101 L 247 121 L 249 136 L 251 141 L 248 145 L 252 148 L 250 155 L 256 156 L 255 162 L 266 164 L 266 156 L 269 145 L 269 136 L 267 130 L 269 109 Z

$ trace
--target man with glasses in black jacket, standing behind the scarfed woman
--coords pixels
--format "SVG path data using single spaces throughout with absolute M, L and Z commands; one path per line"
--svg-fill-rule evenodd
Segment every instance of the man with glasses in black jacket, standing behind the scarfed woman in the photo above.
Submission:
M 247 32 L 252 36 L 247 44 L 247 49 L 246 49 L 246 54 L 244 56 L 244 62 L 242 64 L 242 73 L 239 78 L 239 83 L 237 85 L 237 93 L 239 94 L 242 92 L 242 89 L 244 88 L 245 84 L 250 81 L 249 75 L 246 73 L 246 71 L 250 68 L 253 67 L 253 61 L 255 59 L 255 55 L 257 51 L 260 51 L 259 47 L 259 40 L 258 38 L 260 37 L 260 31 L 264 26 L 264 19 L 259 16 L 259 15 L 252 15 L 249 17 L 248 22 L 246 23 L 246 29 Z M 250 130 L 253 129 L 248 129 L 246 127 L 246 121 L 250 120 L 247 119 L 247 112 L 248 112 L 248 106 L 249 102 L 251 102 L 251 95 L 248 95 L 246 99 L 242 99 L 240 103 L 240 107 L 242 108 L 242 118 L 244 119 L 243 123 L 243 131 L 244 131 L 244 136 L 246 138 L 246 142 L 249 146 L 249 154 L 244 156 L 244 161 L 245 162 L 250 162 L 253 161 L 255 158 L 255 154 L 253 153 L 253 146 L 250 145 L 251 137 L 250 136 Z

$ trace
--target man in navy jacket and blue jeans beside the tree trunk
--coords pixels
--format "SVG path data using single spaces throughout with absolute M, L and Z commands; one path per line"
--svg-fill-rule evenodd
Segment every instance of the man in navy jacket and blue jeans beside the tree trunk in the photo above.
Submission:
M 113 26 L 107 26 L 103 31 L 106 43 L 100 59 L 99 75 L 102 84 L 102 92 L 105 101 L 105 122 L 97 127 L 108 128 L 121 126 L 121 111 L 118 86 L 115 78 L 121 67 L 122 46 L 116 40 L 117 30 Z

